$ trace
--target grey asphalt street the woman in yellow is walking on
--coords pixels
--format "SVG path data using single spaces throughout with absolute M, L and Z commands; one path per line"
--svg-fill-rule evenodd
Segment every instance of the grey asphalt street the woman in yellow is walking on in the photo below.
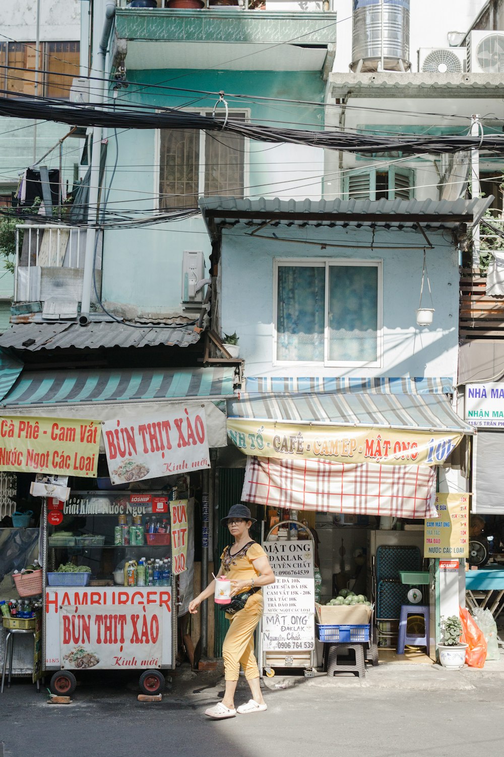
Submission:
M 502 657 L 501 657 L 502 659 Z M 504 661 L 484 670 L 380 664 L 366 678 L 265 679 L 267 712 L 210 721 L 219 673 L 178 668 L 162 702 L 138 702 L 138 678 L 79 674 L 70 705 L 26 679 L 0 698 L 0 757 L 444 757 L 504 754 Z M 240 680 L 237 704 L 249 699 Z M 3 747 L 3 751 L 2 751 Z

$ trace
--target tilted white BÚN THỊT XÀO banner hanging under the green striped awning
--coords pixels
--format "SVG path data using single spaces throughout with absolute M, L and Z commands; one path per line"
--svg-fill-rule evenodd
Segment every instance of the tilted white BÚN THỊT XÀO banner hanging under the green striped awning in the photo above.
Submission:
M 176 405 L 148 419 L 105 421 L 103 429 L 113 484 L 210 467 L 203 407 Z

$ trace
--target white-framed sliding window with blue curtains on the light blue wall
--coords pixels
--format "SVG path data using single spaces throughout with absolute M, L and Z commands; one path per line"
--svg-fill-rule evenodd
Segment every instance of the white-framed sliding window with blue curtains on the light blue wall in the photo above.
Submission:
M 381 366 L 382 261 L 274 261 L 274 363 Z

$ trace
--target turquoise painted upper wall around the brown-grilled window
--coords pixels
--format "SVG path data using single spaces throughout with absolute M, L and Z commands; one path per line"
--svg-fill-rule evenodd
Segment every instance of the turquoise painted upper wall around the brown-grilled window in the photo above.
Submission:
M 230 108 L 249 109 L 252 120 L 292 126 L 306 123 L 323 126 L 323 107 L 279 103 L 277 98 L 323 103 L 324 84 L 319 73 L 156 70 L 128 71 L 130 85 L 120 91 L 122 101 L 156 106 L 208 108 L 215 95 L 198 95 L 187 90 L 226 92 Z M 142 89 L 142 84 L 165 83 L 167 88 Z M 184 87 L 182 91 L 177 88 Z M 250 98 L 233 98 L 233 93 Z M 229 95 L 227 93 L 230 93 Z M 256 101 L 256 95 L 274 98 Z M 107 182 L 116 157 L 116 140 L 109 134 Z M 118 131 L 119 161 L 110 192 L 108 210 L 137 210 L 150 215 L 159 192 L 157 132 Z M 323 151 L 298 145 L 251 142 L 249 179 L 245 195 L 318 199 L 321 196 Z M 181 312 L 181 272 L 184 250 L 202 250 L 208 271 L 209 237 L 201 217 L 178 223 L 161 223 L 128 231 L 110 230 L 104 240 L 103 297 L 117 313 L 169 316 Z

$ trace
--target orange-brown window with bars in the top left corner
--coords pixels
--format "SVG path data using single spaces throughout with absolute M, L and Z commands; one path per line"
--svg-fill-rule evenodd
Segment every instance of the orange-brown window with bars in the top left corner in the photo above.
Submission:
M 10 95 L 35 95 L 35 42 L 2 43 L 0 64 L 2 89 L 7 89 Z M 79 42 L 42 43 L 38 68 L 39 95 L 68 99 L 72 77 L 79 76 Z

